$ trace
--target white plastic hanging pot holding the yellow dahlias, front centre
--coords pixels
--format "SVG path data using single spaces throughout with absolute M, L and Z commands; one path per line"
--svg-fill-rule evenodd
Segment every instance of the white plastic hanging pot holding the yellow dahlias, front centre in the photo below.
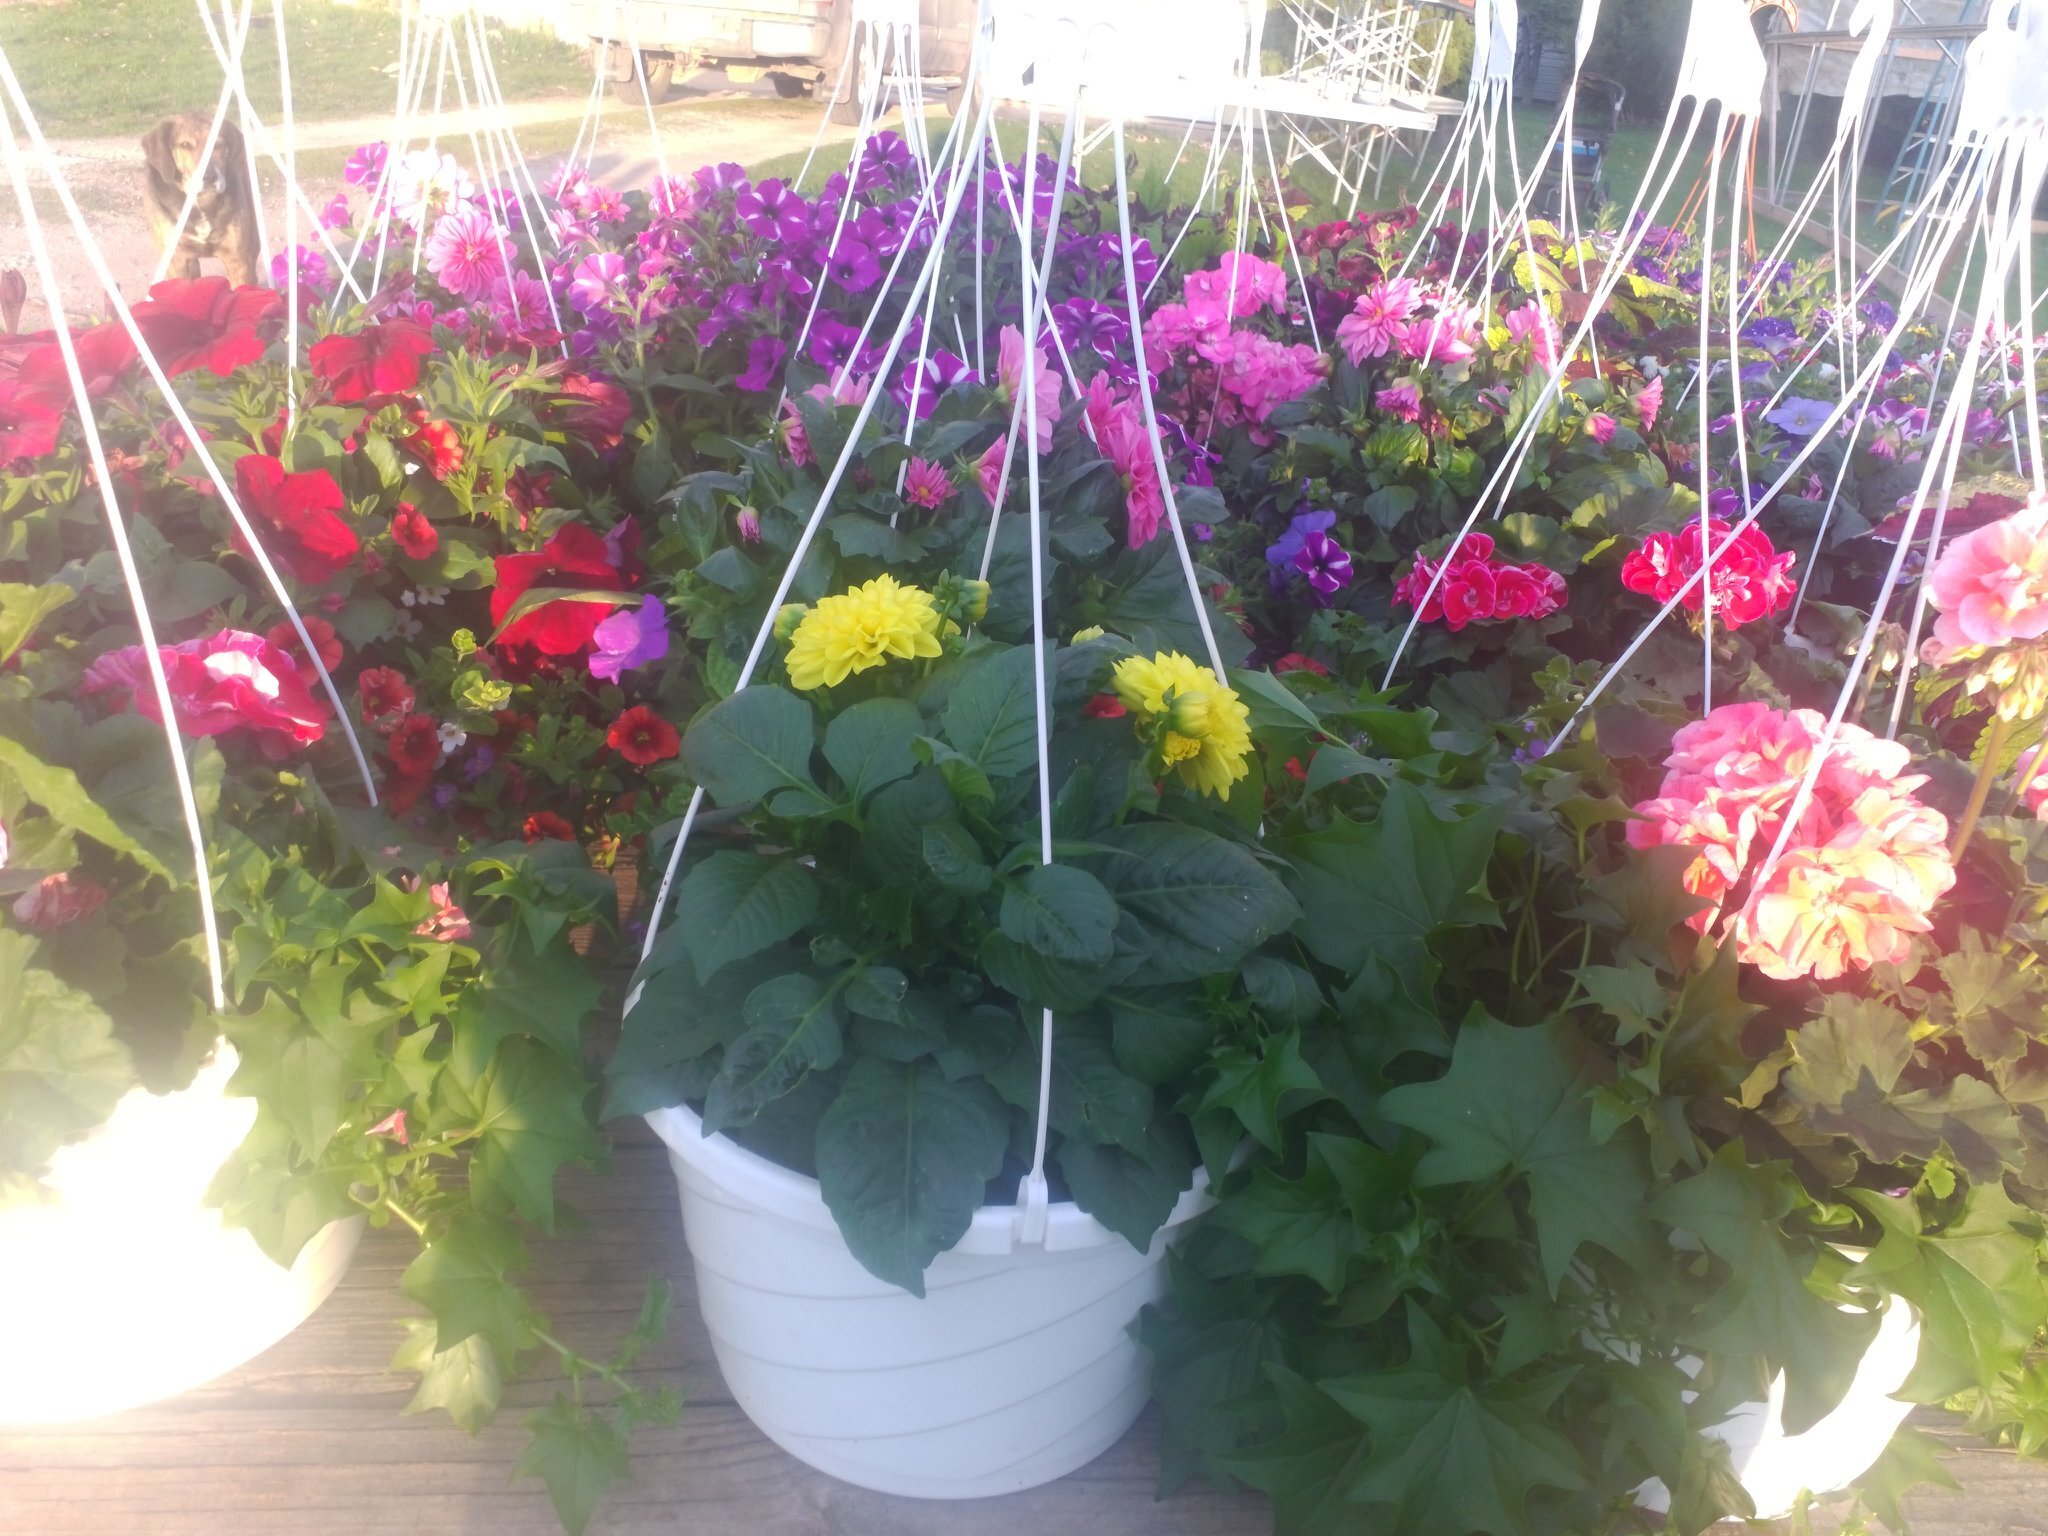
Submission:
M 1028 1247 L 1012 1206 L 983 1206 L 918 1298 L 860 1268 L 817 1180 L 707 1137 L 688 1108 L 647 1124 L 725 1384 L 797 1460 L 881 1493 L 979 1499 L 1065 1477 L 1145 1407 L 1128 1329 L 1165 1292 L 1169 1233 L 1208 1204 L 1200 1174 L 1147 1253 L 1073 1202 Z

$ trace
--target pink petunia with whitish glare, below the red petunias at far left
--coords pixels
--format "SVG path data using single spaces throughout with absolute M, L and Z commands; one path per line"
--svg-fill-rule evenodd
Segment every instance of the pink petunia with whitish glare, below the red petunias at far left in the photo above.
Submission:
M 252 731 L 270 760 L 311 745 L 326 731 L 326 709 L 299 678 L 299 664 L 260 635 L 223 629 L 207 639 L 160 645 L 170 702 L 186 735 Z M 156 684 L 141 645 L 109 651 L 82 682 L 86 692 L 127 690 L 135 709 L 154 721 Z

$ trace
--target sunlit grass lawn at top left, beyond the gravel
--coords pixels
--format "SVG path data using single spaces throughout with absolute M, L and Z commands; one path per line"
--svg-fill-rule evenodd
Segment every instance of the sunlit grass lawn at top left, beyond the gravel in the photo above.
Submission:
M 389 0 L 352 6 L 289 0 L 285 45 L 295 117 L 313 121 L 393 109 L 399 16 Z M 43 131 L 57 137 L 143 133 L 172 113 L 211 113 L 221 90 L 221 66 L 201 27 L 199 0 L 59 0 L 47 6 L 0 0 L 0 47 Z M 489 47 L 508 100 L 590 90 L 590 63 L 553 37 L 494 27 Z M 467 53 L 463 66 L 467 70 Z M 279 61 L 268 0 L 254 0 L 244 70 L 250 100 L 264 121 L 276 121 Z M 455 100 L 453 84 L 449 100 Z

